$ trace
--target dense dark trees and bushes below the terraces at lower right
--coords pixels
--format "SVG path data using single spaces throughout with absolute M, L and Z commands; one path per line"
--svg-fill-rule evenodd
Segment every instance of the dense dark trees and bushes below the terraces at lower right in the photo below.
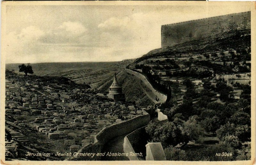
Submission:
M 153 142 L 161 142 L 167 160 L 187 161 L 234 161 L 250 159 L 251 141 L 251 98 L 250 86 L 243 85 L 240 99 L 231 96 L 233 89 L 220 79 L 216 87 L 206 80 L 203 90 L 196 91 L 195 85 L 184 81 L 187 87 L 182 104 L 170 100 L 165 103 L 163 113 L 169 122 L 162 126 L 150 123 L 146 132 Z M 220 90 L 221 89 L 221 90 Z M 214 102 L 215 93 L 220 93 L 222 102 Z M 225 94 L 225 97 L 223 96 Z M 197 102 L 193 104 L 193 99 Z M 219 144 L 204 146 L 205 138 L 217 137 Z M 189 141 L 200 144 L 195 149 L 188 149 Z M 181 148 L 174 146 L 181 144 Z M 202 144 L 202 146 L 201 146 Z M 216 153 L 232 153 L 232 156 L 216 156 Z

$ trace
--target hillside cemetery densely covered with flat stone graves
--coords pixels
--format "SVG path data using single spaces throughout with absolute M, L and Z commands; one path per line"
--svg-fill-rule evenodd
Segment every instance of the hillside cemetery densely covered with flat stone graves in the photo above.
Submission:
M 5 121 L 7 156 L 18 155 L 19 145 L 30 146 L 23 127 L 64 142 L 66 151 L 76 152 L 93 143 L 102 128 L 141 114 L 135 105 L 99 96 L 88 85 L 63 77 L 6 74 L 5 115 L 14 118 Z M 20 116 L 27 119 L 17 120 Z M 10 122 L 17 127 L 10 127 Z

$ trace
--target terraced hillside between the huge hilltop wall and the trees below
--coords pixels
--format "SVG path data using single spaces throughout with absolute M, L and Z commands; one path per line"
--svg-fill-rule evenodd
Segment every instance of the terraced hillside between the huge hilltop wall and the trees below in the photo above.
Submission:
M 231 30 L 173 47 L 155 49 L 127 66 L 146 75 L 154 88 L 190 79 L 198 88 L 205 80 L 215 85 L 224 79 L 228 86 L 251 80 L 251 31 Z M 173 90 L 173 89 L 172 89 Z M 238 94 L 239 95 L 239 94 Z

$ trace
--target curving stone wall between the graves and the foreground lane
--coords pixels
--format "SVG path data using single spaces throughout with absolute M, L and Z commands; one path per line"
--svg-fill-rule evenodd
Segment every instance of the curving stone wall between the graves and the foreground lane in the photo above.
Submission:
M 81 148 L 77 153 L 100 153 L 104 145 L 117 136 L 130 133 L 140 127 L 146 126 L 150 121 L 150 115 L 147 112 L 143 112 L 143 115 L 129 119 L 127 121 L 117 123 L 103 128 L 94 139 L 93 144 L 89 144 Z M 68 161 L 97 161 L 100 160 L 100 156 L 74 156 L 67 159 Z

